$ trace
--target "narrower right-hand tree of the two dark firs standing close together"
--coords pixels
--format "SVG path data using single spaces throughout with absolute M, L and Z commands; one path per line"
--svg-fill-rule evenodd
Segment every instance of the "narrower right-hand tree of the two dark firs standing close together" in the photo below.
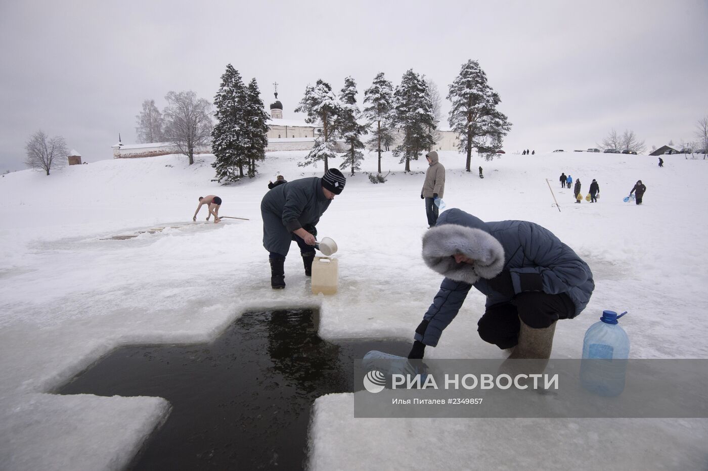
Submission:
M 265 159 L 268 146 L 268 120 L 270 117 L 263 108 L 261 91 L 256 79 L 251 79 L 246 88 L 246 106 L 244 107 L 244 144 L 245 155 L 249 161 L 249 177 L 256 176 L 256 162 Z

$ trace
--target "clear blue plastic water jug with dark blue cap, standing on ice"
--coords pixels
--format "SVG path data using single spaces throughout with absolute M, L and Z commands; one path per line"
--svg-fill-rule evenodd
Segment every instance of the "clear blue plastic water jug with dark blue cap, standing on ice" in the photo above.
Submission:
M 603 310 L 600 322 L 590 325 L 583 339 L 580 380 L 583 388 L 600 396 L 618 396 L 624 390 L 629 358 L 629 337 L 614 310 Z

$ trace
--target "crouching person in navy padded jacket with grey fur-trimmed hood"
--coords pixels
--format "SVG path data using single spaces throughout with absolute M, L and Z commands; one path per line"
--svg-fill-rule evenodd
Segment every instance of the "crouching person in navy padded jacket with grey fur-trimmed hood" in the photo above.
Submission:
M 554 234 L 527 221 L 484 222 L 459 209 L 423 236 L 423 260 L 445 275 L 409 359 L 422 359 L 452 322 L 469 289 L 486 295 L 477 323 L 485 342 L 513 348 L 511 359 L 549 359 L 556 321 L 572 319 L 595 289 L 586 262 Z

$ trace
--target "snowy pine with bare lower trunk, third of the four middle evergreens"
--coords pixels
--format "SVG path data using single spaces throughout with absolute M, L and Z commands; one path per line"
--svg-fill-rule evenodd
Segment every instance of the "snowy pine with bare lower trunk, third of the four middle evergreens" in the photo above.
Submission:
M 394 141 L 391 125 L 393 96 L 394 87 L 386 80 L 383 72 L 376 75 L 371 86 L 364 92 L 364 103 L 369 103 L 369 106 L 364 108 L 364 115 L 372 129 L 372 138 L 367 144 L 375 145 L 374 149 L 379 154 L 379 173 L 381 173 L 382 146 Z

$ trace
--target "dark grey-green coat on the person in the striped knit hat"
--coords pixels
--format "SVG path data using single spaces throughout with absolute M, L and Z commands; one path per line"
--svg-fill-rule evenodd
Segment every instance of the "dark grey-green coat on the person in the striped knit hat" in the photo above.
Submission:
M 269 252 L 287 255 L 292 231 L 319 222 L 331 199 L 322 191 L 321 178 L 300 178 L 274 187 L 261 201 L 263 247 Z

